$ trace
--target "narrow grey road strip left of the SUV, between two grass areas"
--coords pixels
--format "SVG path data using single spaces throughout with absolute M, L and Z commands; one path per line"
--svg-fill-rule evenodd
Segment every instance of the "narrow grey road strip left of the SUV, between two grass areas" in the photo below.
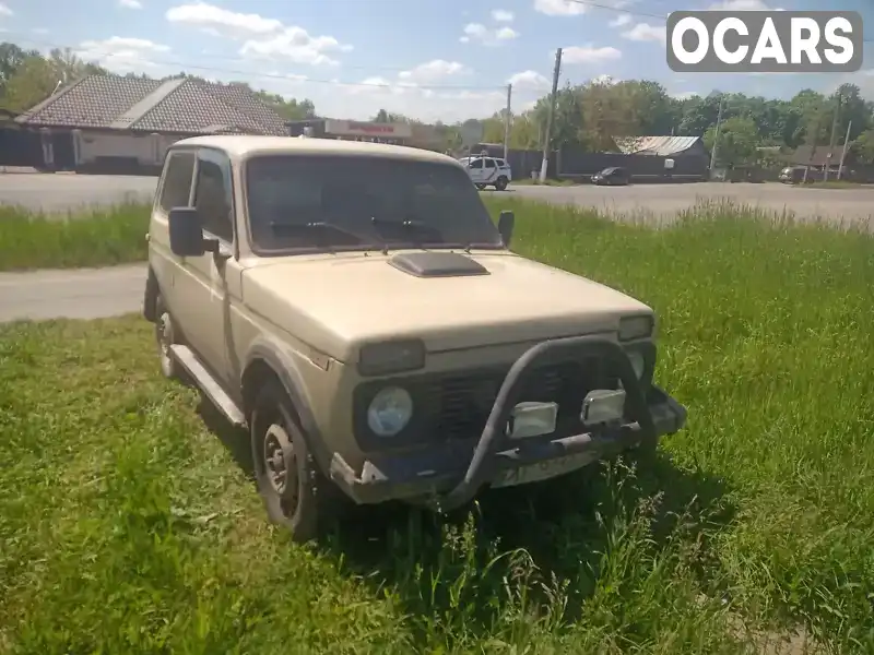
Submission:
M 140 311 L 145 266 L 0 273 L 0 323 L 99 319 Z

